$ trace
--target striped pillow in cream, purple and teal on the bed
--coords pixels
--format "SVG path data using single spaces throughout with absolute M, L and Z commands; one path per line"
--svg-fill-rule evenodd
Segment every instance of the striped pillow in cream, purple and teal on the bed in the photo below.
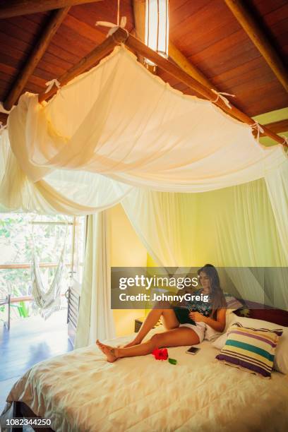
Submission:
M 248 328 L 234 323 L 227 332 L 227 340 L 217 360 L 230 366 L 271 378 L 275 349 L 283 330 L 277 328 Z

